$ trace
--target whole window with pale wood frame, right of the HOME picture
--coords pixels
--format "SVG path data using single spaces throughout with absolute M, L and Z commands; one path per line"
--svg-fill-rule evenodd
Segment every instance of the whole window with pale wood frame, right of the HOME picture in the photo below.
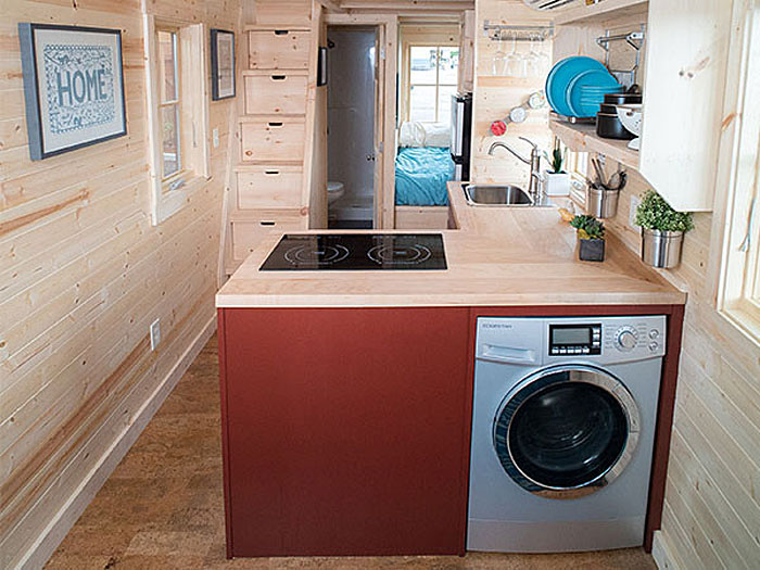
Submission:
M 208 177 L 207 30 L 144 16 L 151 210 L 161 224 Z

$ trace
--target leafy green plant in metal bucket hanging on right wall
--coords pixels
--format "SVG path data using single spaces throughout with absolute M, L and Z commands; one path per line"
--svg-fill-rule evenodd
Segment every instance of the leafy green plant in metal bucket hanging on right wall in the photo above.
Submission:
M 681 263 L 684 233 L 694 228 L 692 214 L 676 212 L 666 200 L 647 190 L 636 207 L 635 223 L 642 228 L 642 259 L 669 269 Z

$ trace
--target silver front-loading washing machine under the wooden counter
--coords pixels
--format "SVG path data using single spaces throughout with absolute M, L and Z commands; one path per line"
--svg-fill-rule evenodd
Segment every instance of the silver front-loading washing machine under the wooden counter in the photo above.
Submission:
M 478 319 L 467 548 L 644 542 L 664 316 Z

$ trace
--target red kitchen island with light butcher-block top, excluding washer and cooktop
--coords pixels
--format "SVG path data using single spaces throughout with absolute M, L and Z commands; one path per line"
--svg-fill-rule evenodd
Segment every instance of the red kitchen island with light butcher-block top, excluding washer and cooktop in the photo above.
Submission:
M 228 556 L 464 554 L 484 316 L 668 317 L 648 545 L 685 294 L 613 237 L 579 262 L 555 207 L 449 198 L 445 270 L 261 271 L 273 235 L 217 294 Z

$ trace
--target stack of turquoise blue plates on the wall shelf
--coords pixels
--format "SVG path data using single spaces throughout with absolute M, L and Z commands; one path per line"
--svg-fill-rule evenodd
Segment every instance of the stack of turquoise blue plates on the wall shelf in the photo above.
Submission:
M 606 93 L 620 93 L 623 87 L 600 62 L 575 55 L 566 58 L 546 78 L 546 99 L 552 109 L 569 117 L 593 117 Z

